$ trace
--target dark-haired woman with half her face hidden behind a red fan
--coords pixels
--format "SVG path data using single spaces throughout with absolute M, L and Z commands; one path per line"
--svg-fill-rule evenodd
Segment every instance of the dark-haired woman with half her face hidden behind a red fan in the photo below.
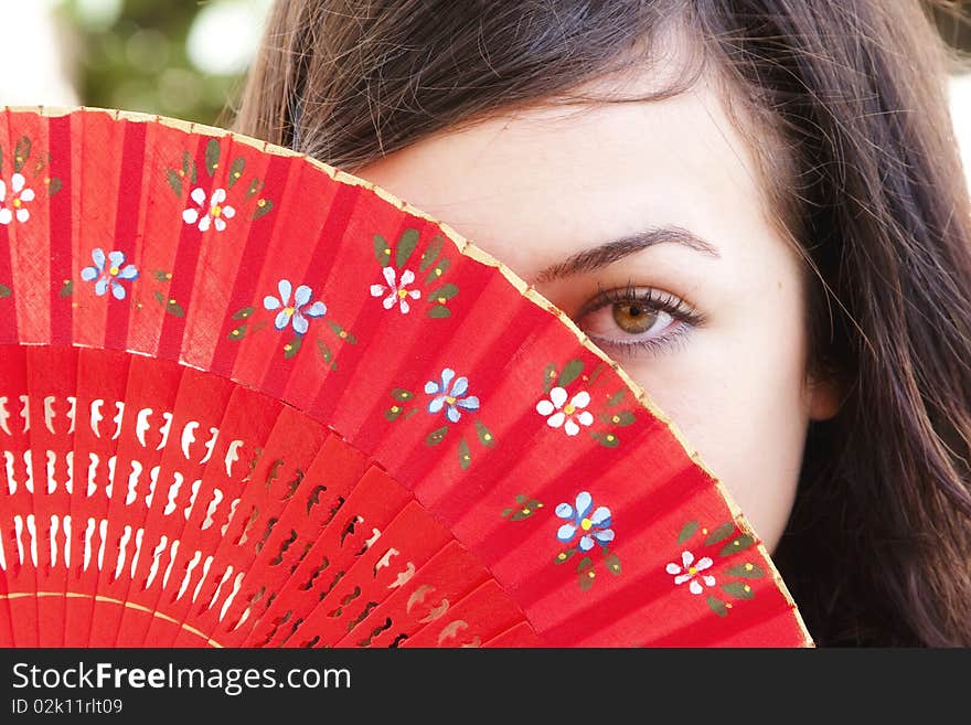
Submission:
M 566 311 L 819 644 L 971 644 L 971 210 L 915 2 L 278 0 L 234 129 Z

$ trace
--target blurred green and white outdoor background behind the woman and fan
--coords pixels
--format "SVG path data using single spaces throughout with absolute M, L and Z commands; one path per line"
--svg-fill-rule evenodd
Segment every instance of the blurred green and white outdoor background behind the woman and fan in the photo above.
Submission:
M 0 57 L 30 70 L 0 78 L 0 103 L 84 104 L 217 124 L 238 97 L 271 2 L 0 0 L 8 29 Z M 971 0 L 949 4 L 936 11 L 941 35 L 971 53 Z M 41 57 L 39 50 L 54 53 Z

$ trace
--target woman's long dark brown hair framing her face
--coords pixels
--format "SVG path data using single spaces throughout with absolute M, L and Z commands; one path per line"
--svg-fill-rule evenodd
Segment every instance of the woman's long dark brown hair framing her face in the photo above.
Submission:
M 652 97 L 714 70 L 777 141 L 754 147 L 812 282 L 809 364 L 843 391 L 773 559 L 819 644 L 971 646 L 971 207 L 916 1 L 278 0 L 233 127 L 353 172 L 576 100 L 672 30 L 697 63 Z

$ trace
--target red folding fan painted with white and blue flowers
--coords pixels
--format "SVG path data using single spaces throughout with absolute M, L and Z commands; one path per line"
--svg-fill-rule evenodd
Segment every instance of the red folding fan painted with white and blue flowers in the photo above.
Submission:
M 215 128 L 3 119 L 0 644 L 812 644 L 644 393 L 448 226 Z

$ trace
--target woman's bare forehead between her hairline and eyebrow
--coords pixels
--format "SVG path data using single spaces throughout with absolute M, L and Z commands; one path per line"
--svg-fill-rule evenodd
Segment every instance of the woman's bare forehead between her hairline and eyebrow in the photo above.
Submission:
M 655 77 L 587 84 L 643 92 Z M 767 234 L 755 154 L 706 78 L 661 100 L 536 104 L 437 132 L 359 171 L 524 277 L 665 224 L 732 246 Z M 719 249 L 721 250 L 721 249 Z

